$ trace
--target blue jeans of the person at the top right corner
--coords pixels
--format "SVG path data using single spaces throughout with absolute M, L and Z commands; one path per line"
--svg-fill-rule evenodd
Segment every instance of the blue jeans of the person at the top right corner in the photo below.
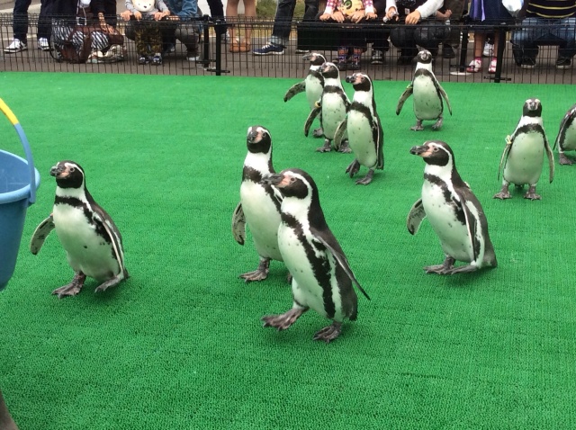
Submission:
M 559 43 L 558 58 L 572 58 L 576 54 L 576 18 L 526 18 L 522 29 L 512 34 L 514 59 L 536 59 L 538 43 Z

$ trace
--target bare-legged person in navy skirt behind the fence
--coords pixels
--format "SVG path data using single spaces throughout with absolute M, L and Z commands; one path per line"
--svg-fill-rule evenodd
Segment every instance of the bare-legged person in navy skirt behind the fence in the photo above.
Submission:
M 509 24 L 514 22 L 514 19 L 502 5 L 502 2 L 494 0 L 472 0 L 470 3 L 470 18 L 472 22 L 477 24 L 474 27 L 474 59 L 466 67 L 469 73 L 477 73 L 482 71 L 482 51 L 484 50 L 484 42 L 488 34 L 494 32 L 494 25 Z M 493 52 L 498 52 L 498 44 L 500 43 L 499 31 L 494 34 L 494 49 Z M 496 57 L 492 57 L 488 73 L 496 73 Z

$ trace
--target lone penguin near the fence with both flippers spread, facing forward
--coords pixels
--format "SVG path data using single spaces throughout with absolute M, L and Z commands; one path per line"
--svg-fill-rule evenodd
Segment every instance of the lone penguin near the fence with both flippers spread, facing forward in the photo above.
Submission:
M 410 130 L 424 130 L 422 121 L 436 120 L 432 126 L 433 130 L 440 130 L 442 122 L 444 121 L 444 103 L 442 98 L 446 100 L 446 107 L 448 112 L 452 115 L 452 107 L 448 100 L 448 94 L 437 81 L 434 72 L 432 71 L 432 54 L 426 49 L 419 51 L 416 57 L 417 64 L 414 71 L 414 77 L 410 85 L 402 93 L 398 106 L 396 107 L 396 114 L 400 115 L 404 102 L 414 94 L 414 114 L 416 115 L 416 125 L 410 127 Z

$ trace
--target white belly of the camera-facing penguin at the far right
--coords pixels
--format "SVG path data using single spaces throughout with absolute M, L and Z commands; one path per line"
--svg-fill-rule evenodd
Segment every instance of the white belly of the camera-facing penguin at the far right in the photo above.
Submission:
M 536 185 L 542 175 L 545 137 L 538 131 L 518 134 L 504 167 L 504 179 L 512 184 Z

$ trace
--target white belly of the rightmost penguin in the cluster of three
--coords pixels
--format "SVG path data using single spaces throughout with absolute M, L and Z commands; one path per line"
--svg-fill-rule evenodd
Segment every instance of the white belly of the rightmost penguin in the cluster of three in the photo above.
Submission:
M 376 142 L 369 119 L 363 112 L 348 112 L 348 142 L 352 152 L 362 166 L 374 168 L 378 162 Z

